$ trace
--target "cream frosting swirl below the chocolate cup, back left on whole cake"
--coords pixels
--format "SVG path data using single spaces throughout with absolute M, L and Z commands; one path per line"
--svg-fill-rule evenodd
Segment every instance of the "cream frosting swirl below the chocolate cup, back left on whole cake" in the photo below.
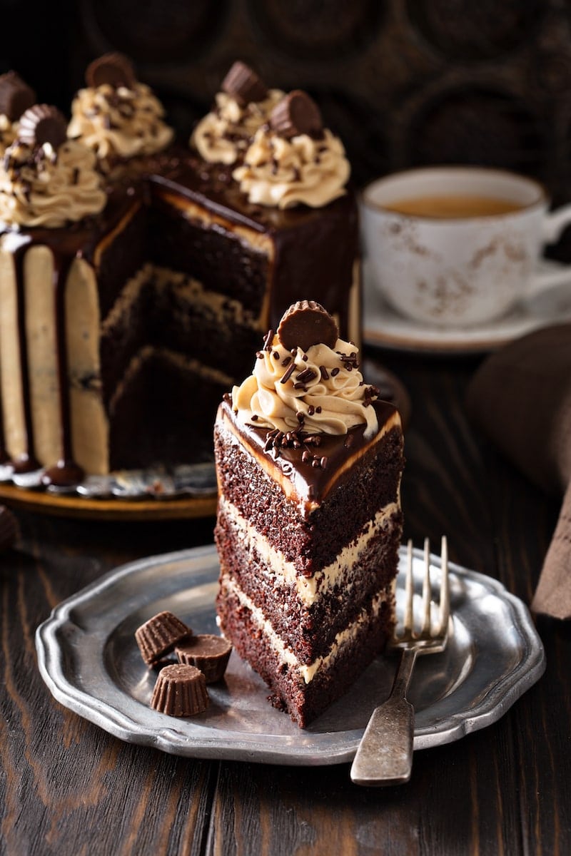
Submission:
M 68 137 L 92 149 L 103 169 L 118 159 L 161 152 L 173 138 L 163 121 L 163 105 L 144 83 L 87 86 L 77 93 L 71 111 Z

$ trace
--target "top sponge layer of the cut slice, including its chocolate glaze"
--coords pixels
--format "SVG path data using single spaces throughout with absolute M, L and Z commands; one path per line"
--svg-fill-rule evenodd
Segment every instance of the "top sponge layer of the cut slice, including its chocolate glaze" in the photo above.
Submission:
M 396 501 L 402 468 L 400 419 L 388 402 L 374 402 L 372 406 L 378 410 L 379 424 L 388 426 L 388 431 L 380 433 L 375 443 L 364 444 L 362 427 L 353 429 L 349 432 L 355 437 L 350 454 L 343 440 L 324 437 L 319 452 L 328 455 L 329 462 L 323 470 L 301 461 L 305 449 L 284 449 L 274 460 L 264 452 L 267 431 L 252 426 L 244 430 L 235 422 L 229 404 L 221 405 L 215 429 L 220 492 L 286 561 L 294 562 L 300 574 L 311 576 L 335 561 L 344 544 L 356 538 L 371 519 L 372 497 L 374 510 Z M 354 479 L 351 466 L 357 460 L 360 478 Z M 288 476 L 291 473 L 302 495 L 309 496 L 312 489 L 314 504 L 326 496 L 326 506 L 315 504 L 308 510 L 302 503 L 300 512 L 296 502 L 288 502 L 285 490 L 275 492 L 276 481 L 260 461 L 275 468 L 286 488 L 295 490 Z

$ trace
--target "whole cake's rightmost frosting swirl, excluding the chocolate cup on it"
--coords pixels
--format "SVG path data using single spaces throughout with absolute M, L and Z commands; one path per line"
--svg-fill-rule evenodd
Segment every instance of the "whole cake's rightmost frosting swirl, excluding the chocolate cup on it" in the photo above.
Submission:
M 286 139 L 263 127 L 232 175 L 254 204 L 321 208 L 346 193 L 350 171 L 341 140 L 328 128 L 317 139 L 309 134 Z

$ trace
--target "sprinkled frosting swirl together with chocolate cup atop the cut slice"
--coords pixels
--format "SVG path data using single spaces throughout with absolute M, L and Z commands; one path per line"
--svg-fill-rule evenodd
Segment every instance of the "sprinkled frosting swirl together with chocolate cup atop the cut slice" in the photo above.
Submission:
M 320 341 L 308 344 L 316 334 Z M 309 435 L 344 435 L 356 425 L 365 425 L 366 440 L 378 432 L 370 406 L 377 390 L 363 381 L 357 348 L 337 337 L 323 306 L 291 306 L 256 356 L 253 374 L 232 390 L 232 407 L 242 424 L 270 429 L 268 449 Z

